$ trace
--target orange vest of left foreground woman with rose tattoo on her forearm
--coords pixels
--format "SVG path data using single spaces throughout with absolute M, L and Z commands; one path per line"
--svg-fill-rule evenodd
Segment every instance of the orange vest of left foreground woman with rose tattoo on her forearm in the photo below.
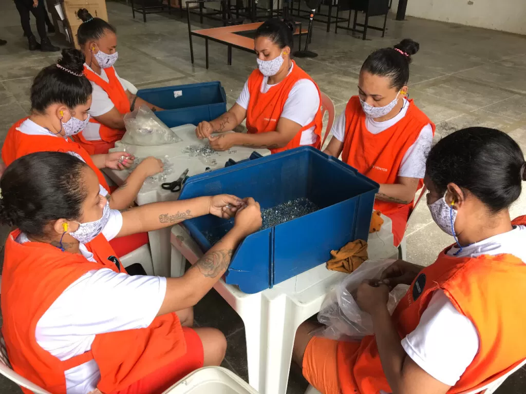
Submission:
M 65 394 L 65 371 L 94 359 L 100 369 L 97 388 L 108 393 L 125 389 L 185 354 L 183 329 L 177 315 L 170 313 L 156 317 L 147 328 L 98 334 L 91 350 L 68 360 L 52 356 L 38 345 L 35 329 L 57 297 L 90 270 L 126 271 L 102 234 L 86 244 L 97 263 L 46 243 L 19 244 L 18 234 L 19 230 L 9 234 L 5 245 L 0 299 L 2 333 L 15 372 L 53 394 Z

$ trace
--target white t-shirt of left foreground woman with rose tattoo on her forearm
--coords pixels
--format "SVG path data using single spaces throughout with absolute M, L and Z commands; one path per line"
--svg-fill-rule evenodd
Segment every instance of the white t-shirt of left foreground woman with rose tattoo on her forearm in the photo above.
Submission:
M 110 211 L 102 233 L 112 240 L 123 225 L 117 210 Z M 23 234 L 17 242 L 28 242 Z M 88 261 L 93 253 L 79 245 Z M 70 284 L 38 320 L 35 338 L 39 346 L 60 360 L 68 360 L 91 349 L 96 334 L 148 327 L 166 293 L 166 278 L 129 276 L 109 268 L 89 271 Z M 116 302 L 108 302 L 116 300 Z M 67 394 L 95 390 L 100 371 L 95 360 L 66 371 Z

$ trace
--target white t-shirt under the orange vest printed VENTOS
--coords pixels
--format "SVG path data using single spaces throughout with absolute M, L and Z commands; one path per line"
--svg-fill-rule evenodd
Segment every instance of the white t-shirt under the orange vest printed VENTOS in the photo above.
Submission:
M 404 106 L 397 116 L 385 122 L 377 122 L 370 117 L 366 117 L 365 126 L 371 134 L 379 134 L 395 125 L 400 119 L 406 116 L 409 108 L 409 101 L 404 98 Z M 332 135 L 340 142 L 345 141 L 346 117 L 345 111 L 336 119 L 332 125 Z M 431 149 L 433 140 L 433 129 L 431 125 L 426 125 L 420 131 L 416 141 L 409 147 L 404 154 L 398 171 L 399 177 L 423 178 L 426 173 L 426 158 Z

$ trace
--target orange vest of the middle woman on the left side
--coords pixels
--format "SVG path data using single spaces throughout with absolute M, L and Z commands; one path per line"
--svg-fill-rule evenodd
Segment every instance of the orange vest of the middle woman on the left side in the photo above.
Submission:
M 25 156 L 29 153 L 53 151 L 75 152 L 82 157 L 93 171 L 95 171 L 99 183 L 109 193 L 109 186 L 103 173 L 100 172 L 88 152 L 86 152 L 83 147 L 78 143 L 61 136 L 32 136 L 24 134 L 19 131 L 18 128 L 26 119 L 27 118 L 19 120 L 9 129 L 9 131 L 7 131 L 4 146 L 2 147 L 2 160 L 6 165 L 11 164 L 19 157 Z

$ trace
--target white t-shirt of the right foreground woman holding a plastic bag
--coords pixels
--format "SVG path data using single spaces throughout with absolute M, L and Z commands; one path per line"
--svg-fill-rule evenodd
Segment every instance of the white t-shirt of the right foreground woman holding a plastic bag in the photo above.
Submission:
M 466 246 L 457 257 L 512 254 L 526 262 L 526 226 Z M 458 248 L 448 251 L 453 255 Z M 402 339 L 409 357 L 433 378 L 454 386 L 479 351 L 478 331 L 442 290 L 433 293 L 417 328 Z

